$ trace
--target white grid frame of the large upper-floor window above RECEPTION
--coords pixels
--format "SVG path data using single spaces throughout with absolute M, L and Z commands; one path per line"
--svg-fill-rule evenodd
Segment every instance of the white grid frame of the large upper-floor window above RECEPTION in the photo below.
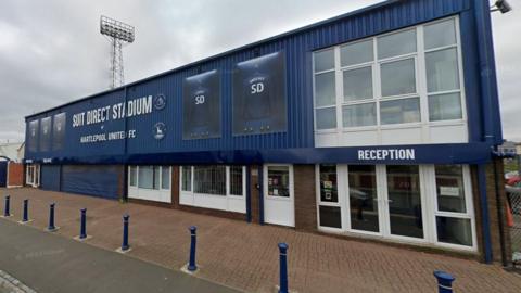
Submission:
M 436 24 L 440 22 L 445 22 L 454 20 L 455 23 L 455 33 L 456 33 L 456 43 L 450 46 L 444 46 L 440 48 L 433 48 L 429 50 L 424 50 L 424 39 L 423 39 L 423 28 L 427 25 Z M 416 38 L 417 38 L 417 50 L 412 53 L 385 58 L 385 59 L 378 59 L 378 41 L 377 39 L 380 37 L 416 29 Z M 364 62 L 354 65 L 342 66 L 341 65 L 341 48 L 346 44 L 354 44 L 357 42 L 363 42 L 367 40 L 372 40 L 373 44 L 373 60 L 371 62 Z M 433 52 L 433 51 L 441 51 L 448 48 L 456 48 L 457 49 L 457 59 L 458 59 L 458 77 L 459 77 L 459 89 L 450 90 L 450 91 L 440 91 L 440 92 L 428 92 L 427 89 L 427 67 L 425 67 L 425 53 Z M 334 68 L 315 72 L 315 54 L 322 51 L 333 50 L 334 52 Z M 402 95 L 394 95 L 394 97 L 382 97 L 381 92 L 381 65 L 384 63 L 393 62 L 393 61 L 402 61 L 406 59 L 412 58 L 415 60 L 415 80 L 416 80 L 416 93 L 408 93 Z M 344 102 L 344 90 L 343 90 L 343 72 L 348 69 L 355 68 L 363 68 L 366 66 L 371 66 L 372 68 L 372 91 L 373 91 L 373 99 L 366 99 L 366 100 L 358 100 L 358 101 L 350 101 Z M 348 136 L 350 132 L 364 132 L 364 131 L 376 131 L 378 133 L 378 141 L 381 141 L 382 131 L 384 130 L 393 130 L 393 129 L 409 129 L 409 128 L 418 128 L 421 130 L 421 140 L 424 140 L 422 143 L 428 143 L 431 137 L 431 130 L 436 127 L 463 127 L 467 126 L 467 103 L 466 103 L 466 90 L 465 90 L 465 77 L 463 77 L 463 66 L 462 66 L 462 52 L 461 52 L 461 36 L 460 36 L 460 25 L 459 25 L 459 17 L 457 15 L 449 16 L 441 20 L 436 20 L 433 22 L 429 22 L 427 24 L 417 25 L 412 27 L 406 27 L 398 30 L 393 30 L 386 34 L 364 38 L 360 40 L 355 40 L 352 42 L 341 43 L 338 46 L 323 48 L 317 51 L 314 51 L 312 54 L 312 71 L 313 71 L 313 95 L 314 95 L 314 129 L 317 136 L 319 137 L 328 137 L 327 135 L 339 135 L 342 137 L 343 135 Z M 336 103 L 328 106 L 317 106 L 316 105 L 316 98 L 315 98 L 315 90 L 316 90 L 316 76 L 318 74 L 328 73 L 328 72 L 335 72 L 335 94 L 336 94 Z M 429 117 L 429 95 L 439 95 L 443 93 L 456 93 L 458 92 L 460 95 L 460 104 L 461 104 L 461 118 L 459 119 L 445 119 L 445 120 L 430 120 Z M 420 103 L 420 120 L 412 122 L 412 123 L 401 123 L 401 124 L 382 124 L 381 123 L 381 102 L 384 101 L 392 101 L 392 100 L 399 100 L 399 99 L 407 99 L 407 98 L 418 98 Z M 342 109 L 346 105 L 356 105 L 356 104 L 366 104 L 366 103 L 376 103 L 376 125 L 372 126 L 352 126 L 352 127 L 344 127 L 343 125 L 343 115 Z M 336 111 L 336 127 L 330 129 L 318 129 L 317 128 L 317 110 L 319 109 L 331 109 L 335 106 Z M 468 130 L 465 130 L 468 132 Z M 338 146 L 342 145 L 342 138 L 333 138 L 328 137 L 329 140 L 336 141 L 333 143 Z M 326 145 L 330 145 L 331 142 L 323 142 Z M 319 143 L 321 144 L 321 143 Z M 351 144 L 350 144 L 351 145 Z M 333 146 L 333 145 L 330 145 Z

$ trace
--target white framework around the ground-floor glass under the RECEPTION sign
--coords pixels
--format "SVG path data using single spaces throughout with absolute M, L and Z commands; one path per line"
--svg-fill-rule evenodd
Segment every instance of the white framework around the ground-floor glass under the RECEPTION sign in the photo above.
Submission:
M 420 176 L 420 201 L 423 224 L 423 238 L 412 238 L 405 235 L 391 234 L 391 221 L 389 213 L 389 192 L 387 192 L 387 173 L 386 165 L 376 165 L 377 176 L 377 194 L 379 211 L 379 232 L 364 231 L 351 228 L 351 206 L 350 206 L 350 183 L 348 183 L 348 165 L 336 164 L 336 180 L 339 189 L 339 203 L 321 202 L 320 200 L 320 171 L 319 164 L 315 165 L 316 180 L 316 211 L 317 211 L 317 229 L 319 231 L 347 234 L 353 237 L 361 237 L 369 239 L 380 239 L 397 243 L 408 243 L 421 246 L 435 246 L 454 251 L 465 251 L 470 253 L 478 252 L 478 240 L 475 231 L 475 216 L 472 196 L 472 182 L 470 176 L 470 167 L 461 165 L 463 170 L 463 188 L 467 213 L 440 212 L 437 209 L 436 180 L 434 165 L 419 165 Z M 340 206 L 342 217 L 342 228 L 331 228 L 320 226 L 319 205 Z M 472 246 L 459 245 L 437 241 L 436 216 L 466 218 L 470 219 Z

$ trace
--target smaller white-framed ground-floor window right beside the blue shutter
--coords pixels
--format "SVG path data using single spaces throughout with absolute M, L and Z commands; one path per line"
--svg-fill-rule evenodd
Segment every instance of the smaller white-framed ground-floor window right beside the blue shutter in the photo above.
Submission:
M 171 203 L 170 166 L 129 166 L 128 198 Z

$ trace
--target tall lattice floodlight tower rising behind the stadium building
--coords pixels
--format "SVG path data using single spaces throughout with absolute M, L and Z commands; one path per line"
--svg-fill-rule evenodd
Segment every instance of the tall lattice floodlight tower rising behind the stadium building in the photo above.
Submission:
M 111 41 L 111 88 L 117 88 L 125 84 L 122 48 L 126 43 L 134 42 L 134 26 L 101 15 L 100 33 Z

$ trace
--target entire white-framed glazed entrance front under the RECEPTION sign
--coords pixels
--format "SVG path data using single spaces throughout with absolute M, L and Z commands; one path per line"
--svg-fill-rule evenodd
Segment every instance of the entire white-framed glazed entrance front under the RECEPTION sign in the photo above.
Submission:
M 476 250 L 466 165 L 317 165 L 320 230 Z

